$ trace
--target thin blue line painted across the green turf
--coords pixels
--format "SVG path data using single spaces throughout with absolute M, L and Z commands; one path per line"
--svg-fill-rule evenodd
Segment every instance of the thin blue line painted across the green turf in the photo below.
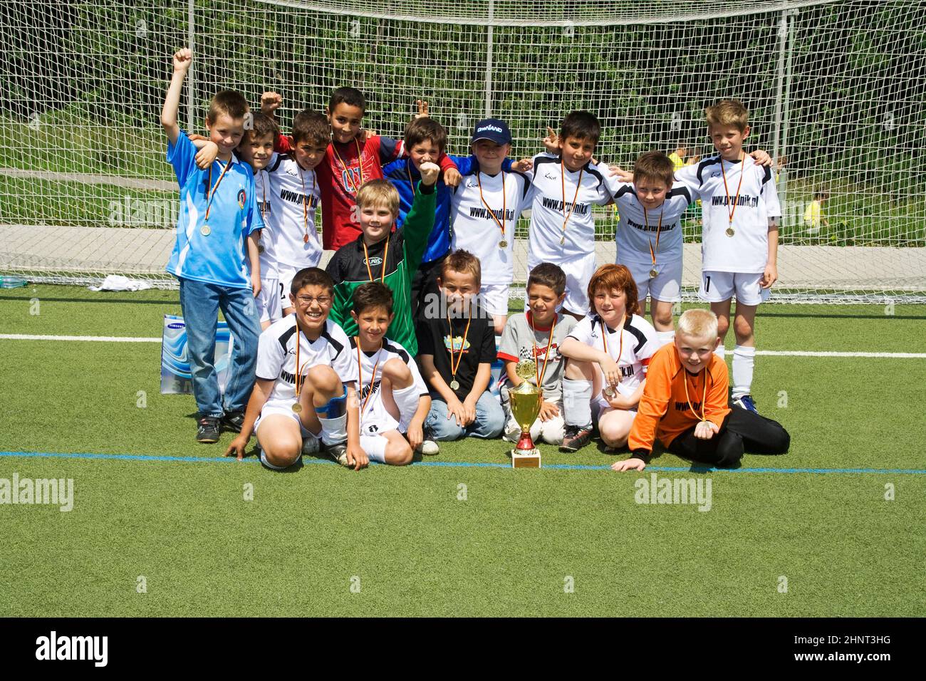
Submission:
M 44 452 L 44 451 L 0 451 L 0 457 L 15 457 L 22 459 L 104 459 L 122 461 L 182 461 L 184 463 L 216 463 L 235 462 L 232 457 L 173 457 L 156 454 L 94 454 L 86 452 Z M 257 463 L 257 457 L 244 459 L 245 463 Z M 372 461 L 375 463 L 375 461 Z M 334 461 L 326 459 L 313 459 L 306 457 L 304 464 L 329 463 Z M 413 467 L 428 468 L 504 468 L 511 469 L 510 463 L 496 463 L 492 461 L 417 461 Z M 554 471 L 607 471 L 609 464 L 592 465 L 582 463 L 547 463 L 544 469 Z M 912 468 L 708 468 L 703 466 L 647 466 L 645 471 L 653 473 L 877 473 L 891 475 L 926 475 L 926 470 Z

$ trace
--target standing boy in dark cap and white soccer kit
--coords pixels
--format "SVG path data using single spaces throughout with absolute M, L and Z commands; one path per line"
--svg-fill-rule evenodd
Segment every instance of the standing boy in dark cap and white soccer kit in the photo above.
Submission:
M 511 132 L 504 120 L 476 123 L 470 149 L 476 162 L 457 164 L 463 179 L 451 196 L 451 250 L 467 250 L 479 258 L 482 306 L 493 317 L 495 334 L 501 334 L 514 280 L 515 225 L 521 211 L 531 206 L 532 184 L 518 170 L 507 170 Z

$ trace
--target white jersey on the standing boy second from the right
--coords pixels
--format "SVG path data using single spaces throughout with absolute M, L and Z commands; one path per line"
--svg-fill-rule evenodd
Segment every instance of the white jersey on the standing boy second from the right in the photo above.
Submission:
M 610 178 L 607 183 L 614 202 L 618 205 L 620 220 L 614 239 L 618 244 L 618 262 L 637 262 L 652 265 L 650 246 L 656 254 L 657 265 L 682 259 L 682 213 L 698 194 L 684 183 L 676 183 L 666 195 L 662 206 L 646 210 L 637 198 L 631 183 Z M 661 225 L 661 227 L 660 227 Z M 659 245 L 657 247 L 657 233 Z

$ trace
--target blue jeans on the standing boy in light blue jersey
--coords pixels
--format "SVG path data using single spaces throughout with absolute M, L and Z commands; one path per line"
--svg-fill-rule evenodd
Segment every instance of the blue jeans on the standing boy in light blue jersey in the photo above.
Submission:
M 260 335 L 260 320 L 251 289 L 181 278 L 180 306 L 186 323 L 186 348 L 199 415 L 220 418 L 223 413 L 215 368 L 219 309 L 234 336 L 224 411 L 244 411 L 254 388 L 257 336 Z

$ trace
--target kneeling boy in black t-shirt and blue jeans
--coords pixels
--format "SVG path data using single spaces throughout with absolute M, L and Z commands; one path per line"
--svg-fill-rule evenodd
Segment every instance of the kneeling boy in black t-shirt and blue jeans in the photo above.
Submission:
M 444 260 L 437 278 L 439 300 L 419 312 L 419 362 L 431 392 L 425 436 L 457 440 L 501 435 L 505 413 L 489 392 L 495 359 L 492 316 L 477 305 L 479 259 L 459 250 Z

